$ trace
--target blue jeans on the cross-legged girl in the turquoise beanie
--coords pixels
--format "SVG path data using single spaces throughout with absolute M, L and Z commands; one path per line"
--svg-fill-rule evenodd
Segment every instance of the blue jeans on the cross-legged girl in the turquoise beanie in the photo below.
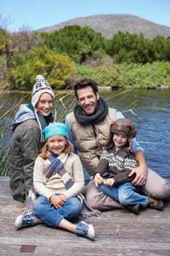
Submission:
M 58 195 L 58 194 L 55 194 Z M 62 219 L 76 219 L 82 211 L 82 203 L 77 197 L 66 200 L 64 206 L 56 209 L 50 205 L 47 197 L 39 196 L 34 202 L 34 214 L 51 227 L 58 227 Z

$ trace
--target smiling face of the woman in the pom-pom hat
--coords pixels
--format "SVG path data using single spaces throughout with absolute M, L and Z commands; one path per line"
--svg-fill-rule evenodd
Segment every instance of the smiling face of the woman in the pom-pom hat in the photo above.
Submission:
M 42 114 L 42 116 L 49 116 L 54 108 L 53 97 L 50 94 L 42 94 L 39 97 L 39 101 L 36 103 L 36 110 Z

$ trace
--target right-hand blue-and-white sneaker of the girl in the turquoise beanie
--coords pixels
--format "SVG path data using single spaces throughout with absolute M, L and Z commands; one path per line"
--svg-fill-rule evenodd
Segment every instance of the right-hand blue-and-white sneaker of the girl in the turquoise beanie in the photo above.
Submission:
M 74 233 L 78 236 L 85 236 L 92 240 L 95 238 L 95 231 L 93 225 L 89 225 L 86 222 L 79 222 Z

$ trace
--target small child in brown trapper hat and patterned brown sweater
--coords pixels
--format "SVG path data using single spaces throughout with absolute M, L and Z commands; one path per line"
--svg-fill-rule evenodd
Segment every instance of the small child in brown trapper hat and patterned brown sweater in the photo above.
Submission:
M 95 184 L 104 194 L 112 197 L 126 206 L 134 214 L 139 214 L 139 207 L 163 209 L 163 202 L 145 195 L 140 195 L 139 187 L 134 187 L 130 181 L 134 176 L 128 177 L 135 167 L 138 166 L 133 149 L 133 140 L 136 135 L 134 124 L 127 118 L 114 121 L 110 128 L 110 136 L 106 150 L 101 155 L 101 160 L 96 168 Z M 104 172 L 107 171 L 107 173 Z

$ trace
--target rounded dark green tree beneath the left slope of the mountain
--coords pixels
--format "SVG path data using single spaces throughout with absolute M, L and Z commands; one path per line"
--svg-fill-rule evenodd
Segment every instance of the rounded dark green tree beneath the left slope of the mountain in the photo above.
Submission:
M 57 53 L 66 53 L 77 63 L 85 61 L 93 51 L 104 49 L 105 39 L 88 26 L 66 26 L 59 31 L 43 33 L 44 44 Z

